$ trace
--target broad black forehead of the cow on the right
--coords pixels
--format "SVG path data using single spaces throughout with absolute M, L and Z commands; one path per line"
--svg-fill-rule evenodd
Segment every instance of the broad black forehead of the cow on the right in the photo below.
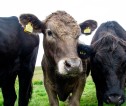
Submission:
M 96 51 L 96 58 L 101 58 L 103 61 L 116 60 L 118 62 L 122 61 L 126 52 L 122 40 L 113 37 L 112 35 L 105 36 L 100 39 L 96 44 L 93 45 L 93 48 Z

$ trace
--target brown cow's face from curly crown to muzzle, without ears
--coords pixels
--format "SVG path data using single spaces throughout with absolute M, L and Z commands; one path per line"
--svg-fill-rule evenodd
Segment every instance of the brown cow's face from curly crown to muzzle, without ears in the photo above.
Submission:
M 61 12 L 52 14 L 45 24 L 44 51 L 56 63 L 58 73 L 75 75 L 82 72 L 82 63 L 76 50 L 81 30 L 76 21 Z

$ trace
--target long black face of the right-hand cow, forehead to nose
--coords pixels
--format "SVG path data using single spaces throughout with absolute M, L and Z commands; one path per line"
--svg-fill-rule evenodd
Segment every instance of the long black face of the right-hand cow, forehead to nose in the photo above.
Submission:
M 93 45 L 92 76 L 100 82 L 106 103 L 122 104 L 125 101 L 126 42 L 107 36 Z

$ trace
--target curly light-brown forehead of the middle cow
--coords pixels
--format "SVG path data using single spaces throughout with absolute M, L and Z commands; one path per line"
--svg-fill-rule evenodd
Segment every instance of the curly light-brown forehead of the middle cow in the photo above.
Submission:
M 77 22 L 64 11 L 52 13 L 45 20 L 47 28 L 51 29 L 58 36 L 70 35 L 75 37 L 80 35 L 80 27 Z

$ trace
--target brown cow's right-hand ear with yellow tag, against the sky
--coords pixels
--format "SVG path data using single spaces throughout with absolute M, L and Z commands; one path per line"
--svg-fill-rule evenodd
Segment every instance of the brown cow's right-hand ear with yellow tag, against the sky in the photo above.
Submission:
M 97 22 L 94 20 L 87 20 L 80 24 L 81 33 L 85 35 L 90 35 L 96 28 Z

